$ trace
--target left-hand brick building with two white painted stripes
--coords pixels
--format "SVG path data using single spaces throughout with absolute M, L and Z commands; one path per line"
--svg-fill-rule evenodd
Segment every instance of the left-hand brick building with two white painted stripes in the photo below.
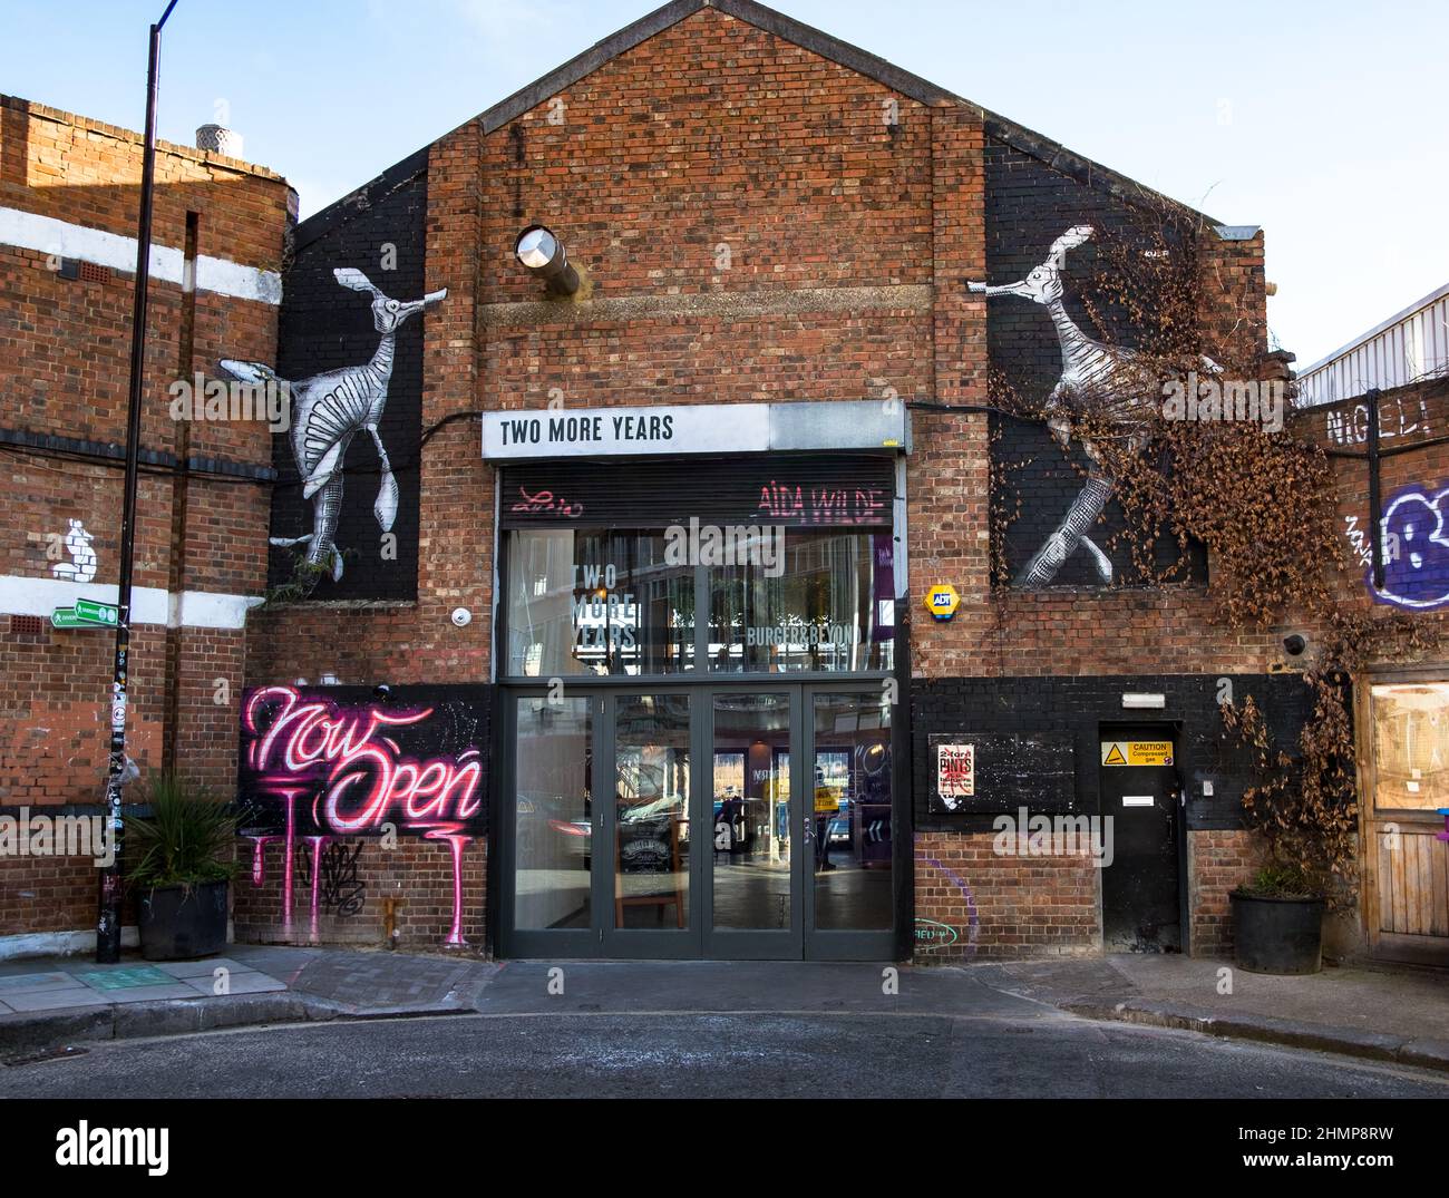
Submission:
M 0 816 L 90 816 L 104 792 L 112 636 L 52 629 L 114 603 L 142 139 L 0 97 Z M 267 579 L 271 433 L 175 422 L 168 387 L 223 352 L 272 358 L 296 196 L 278 175 L 156 155 L 132 637 L 132 756 L 229 791 L 245 608 Z M 90 858 L 0 860 L 0 950 L 81 943 Z

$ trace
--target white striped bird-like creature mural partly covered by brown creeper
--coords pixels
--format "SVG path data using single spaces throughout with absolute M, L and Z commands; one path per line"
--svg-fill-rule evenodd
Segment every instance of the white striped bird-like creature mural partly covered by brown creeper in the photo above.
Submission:
M 1094 232 L 1091 225 L 1074 225 L 1052 242 L 1046 261 L 1017 282 L 1000 287 L 968 282 L 966 287 L 987 298 L 1017 296 L 1032 300 L 1043 304 L 1051 314 L 1062 349 L 1062 374 L 1048 394 L 1042 411 L 1046 416 L 1046 427 L 1064 449 L 1075 433 L 1074 410 L 1090 410 L 1119 426 L 1122 435 L 1127 437 L 1129 453 L 1139 453 L 1148 443 L 1149 420 L 1161 410 L 1161 382 L 1136 351 L 1103 345 L 1087 336 L 1077 327 L 1064 303 L 1062 269 L 1066 265 L 1066 251 L 1091 240 Z M 1213 372 L 1222 369 L 1210 358 L 1203 358 L 1203 365 Z M 1093 464 L 1087 472 L 1087 484 L 1072 500 L 1056 530 L 1017 574 L 1014 579 L 1017 587 L 1049 585 L 1078 546 L 1091 555 L 1098 578 L 1104 584 L 1111 582 L 1111 559 L 1087 536 L 1087 530 L 1101 516 L 1116 482 L 1104 469 L 1101 452 L 1091 439 L 1078 436 L 1078 440 Z

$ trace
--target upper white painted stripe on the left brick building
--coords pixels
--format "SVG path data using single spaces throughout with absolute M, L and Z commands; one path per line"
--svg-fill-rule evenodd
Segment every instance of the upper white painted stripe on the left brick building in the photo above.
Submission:
M 57 258 L 78 258 L 97 267 L 117 271 L 136 269 L 136 239 L 103 229 L 87 229 L 39 216 L 33 211 L 0 207 L 0 245 L 33 249 L 38 254 L 54 254 Z M 255 300 L 261 304 L 281 303 L 281 275 L 225 258 L 196 259 L 197 287 L 219 296 L 233 296 L 238 300 Z M 151 277 L 164 282 L 181 285 L 185 272 L 185 254 L 167 245 L 151 246 Z

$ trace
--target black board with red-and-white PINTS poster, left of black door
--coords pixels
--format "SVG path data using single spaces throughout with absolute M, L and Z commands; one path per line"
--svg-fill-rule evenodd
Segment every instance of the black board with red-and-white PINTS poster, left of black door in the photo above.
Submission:
M 1071 733 L 948 732 L 932 733 L 929 745 L 932 816 L 1077 808 Z

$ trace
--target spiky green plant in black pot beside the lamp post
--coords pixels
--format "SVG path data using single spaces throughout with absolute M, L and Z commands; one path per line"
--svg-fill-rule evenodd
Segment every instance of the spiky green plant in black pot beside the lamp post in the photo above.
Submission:
M 146 960 L 212 956 L 226 944 L 226 910 L 236 872 L 238 816 L 206 787 L 172 772 L 146 787 L 149 817 L 128 816 L 136 853 L 141 955 Z

